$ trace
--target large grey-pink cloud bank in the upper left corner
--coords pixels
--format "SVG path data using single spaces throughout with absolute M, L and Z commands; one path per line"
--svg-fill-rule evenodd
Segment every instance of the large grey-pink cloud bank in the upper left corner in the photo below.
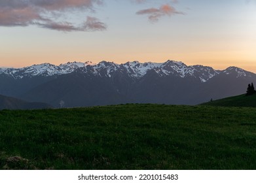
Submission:
M 94 17 L 88 16 L 81 26 L 76 26 L 71 22 L 57 22 L 54 16 L 54 12 L 65 16 L 70 11 L 94 11 L 94 6 L 101 3 L 101 0 L 2 0 L 0 26 L 39 25 L 58 31 L 103 31 L 106 25 Z

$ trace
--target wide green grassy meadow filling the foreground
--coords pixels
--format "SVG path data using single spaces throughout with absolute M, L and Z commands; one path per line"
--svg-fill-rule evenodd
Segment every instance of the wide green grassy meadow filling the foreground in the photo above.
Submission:
M 0 111 L 0 169 L 256 169 L 256 108 Z

